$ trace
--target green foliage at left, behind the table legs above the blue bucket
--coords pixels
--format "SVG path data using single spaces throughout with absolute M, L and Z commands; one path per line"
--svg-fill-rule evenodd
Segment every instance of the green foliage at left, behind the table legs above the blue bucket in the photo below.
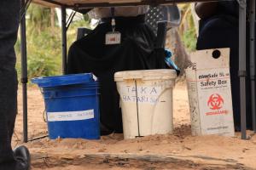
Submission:
M 26 14 L 28 78 L 61 75 L 61 28 L 50 24 L 50 8 L 32 4 Z M 73 21 L 67 31 L 67 47 L 75 41 L 78 27 L 89 27 L 89 20 Z M 68 50 L 68 48 L 67 48 Z M 16 69 L 20 77 L 20 37 L 15 45 Z

